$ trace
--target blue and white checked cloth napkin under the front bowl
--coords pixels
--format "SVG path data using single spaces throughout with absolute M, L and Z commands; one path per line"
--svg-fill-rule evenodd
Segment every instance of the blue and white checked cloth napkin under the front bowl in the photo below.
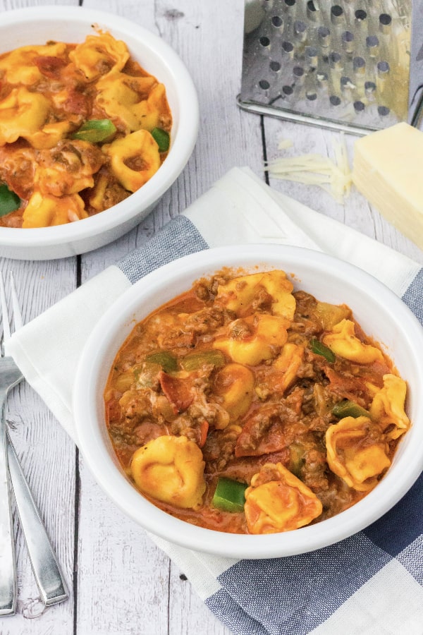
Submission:
M 181 224 L 181 220 L 184 222 L 186 220 L 186 223 L 195 229 L 199 238 L 204 240 L 204 244 L 198 246 L 194 241 L 188 246 L 189 250 L 204 248 L 205 243 L 209 247 L 214 247 L 225 244 L 263 242 L 303 246 L 335 255 L 373 274 L 391 287 L 398 296 L 407 298 L 410 308 L 420 320 L 423 320 L 421 286 L 423 275 L 420 265 L 377 243 L 372 238 L 318 214 L 281 193 L 272 191 L 248 168 L 234 168 L 229 171 L 181 216 L 183 216 L 182 219 L 178 217 L 162 230 L 166 234 L 166 241 L 173 241 L 173 250 L 168 250 L 168 242 L 166 242 L 166 250 L 161 250 L 160 236 L 154 237 L 152 241 L 136 250 L 134 255 L 125 258 L 124 262 L 108 267 L 104 272 L 83 284 L 77 291 L 29 322 L 13 334 L 8 343 L 8 353 L 18 363 L 27 382 L 44 399 L 59 423 L 76 443 L 78 439 L 73 425 L 71 398 L 75 370 L 85 341 L 99 317 L 136 279 L 163 264 L 166 258 L 172 260 L 178 255 L 185 255 L 183 241 L 180 241 L 179 234 L 185 232 L 186 224 Z M 408 540 L 407 547 L 417 540 L 420 533 L 422 533 L 421 523 L 416 536 L 413 535 L 412 540 Z M 374 538 L 373 534 L 369 536 L 365 536 L 366 540 L 376 540 L 376 551 L 379 554 L 383 546 L 379 545 L 378 538 Z M 320 593 L 317 584 L 316 595 L 310 594 L 309 604 L 307 604 L 300 591 L 298 593 L 295 591 L 293 583 L 286 591 L 289 595 L 284 595 L 285 592 L 279 589 L 275 596 L 274 583 L 266 588 L 266 582 L 262 580 L 263 571 L 266 571 L 266 576 L 270 576 L 271 579 L 271 576 L 279 571 L 281 562 L 283 562 L 283 573 L 279 571 L 279 575 L 288 580 L 286 571 L 289 569 L 290 561 L 295 559 L 284 558 L 265 561 L 265 563 L 264 561 L 238 562 L 192 552 L 166 543 L 159 538 L 154 537 L 154 540 L 187 574 L 211 610 L 235 633 L 259 635 L 295 632 L 295 635 L 300 635 L 300 633 L 315 632 L 338 635 L 339 625 L 345 618 L 352 615 L 352 612 L 354 612 L 353 619 L 361 626 L 358 630 L 355 630 L 353 626 L 346 629 L 343 627 L 344 633 L 348 635 L 364 633 L 422 635 L 423 633 L 423 578 L 422 576 L 420 579 L 418 576 L 416 578 L 413 571 L 410 572 L 410 567 L 405 570 L 405 573 L 401 569 L 404 574 L 401 578 L 395 567 L 403 568 L 404 564 L 398 561 L 398 554 L 393 554 L 392 549 L 387 550 L 388 555 L 386 563 L 382 563 L 383 567 L 382 564 L 379 568 L 375 565 L 375 569 L 369 570 L 364 579 L 360 579 L 358 586 L 353 581 L 353 578 L 357 579 L 353 564 L 348 564 L 350 567 L 349 586 L 346 585 L 345 580 L 341 583 L 343 586 L 346 585 L 345 588 L 350 589 L 349 595 L 347 593 L 345 597 L 340 596 L 338 601 L 333 603 L 333 600 L 325 599 L 324 595 L 321 595 L 323 591 L 327 592 L 327 588 Z M 351 541 L 354 541 L 354 537 L 350 539 Z M 343 541 L 343 543 L 346 542 Z M 362 557 L 365 557 L 363 554 L 366 553 L 366 548 L 362 543 L 360 544 L 360 553 Z M 373 542 L 372 546 L 374 546 Z M 350 548 L 351 545 L 348 550 Z M 339 552 L 340 549 L 341 552 Z M 332 551 L 331 548 L 320 550 L 324 552 L 324 558 L 332 557 L 331 562 L 334 563 L 335 571 L 338 569 L 339 558 L 341 555 L 343 557 L 342 549 L 341 546 L 334 547 Z M 422 562 L 422 545 L 416 553 Z M 304 575 L 307 574 L 307 567 L 309 567 L 307 559 L 310 557 L 312 556 L 296 557 L 297 578 L 301 577 L 301 568 L 298 569 L 300 562 L 304 564 Z M 369 554 L 367 557 L 370 557 Z M 376 556 L 372 557 L 379 562 Z M 392 569 L 393 562 L 395 567 Z M 392 570 L 389 569 L 388 573 L 385 571 L 385 564 L 391 566 Z M 355 565 L 360 569 L 360 560 L 357 560 Z M 385 571 L 383 580 L 378 577 L 382 569 Z M 264 593 L 262 603 L 263 598 L 274 595 L 276 604 L 269 608 L 266 615 L 262 615 L 258 600 L 257 605 L 253 606 L 250 595 L 246 599 L 243 593 L 240 593 L 239 583 L 234 582 L 234 571 L 238 581 L 242 579 L 243 574 L 249 580 L 259 576 Z M 388 593 L 391 583 L 396 584 L 398 591 L 398 579 L 406 579 L 405 582 L 403 581 L 405 603 L 400 612 L 398 612 L 398 603 L 392 603 L 392 594 Z M 370 585 L 369 588 L 373 594 L 376 593 L 379 597 L 379 593 L 384 593 L 385 597 L 383 602 L 380 598 L 377 603 L 374 602 L 372 610 L 369 610 L 367 600 L 360 598 L 360 592 L 366 584 Z M 293 598 L 297 598 L 295 610 L 291 606 Z M 322 600 L 321 605 L 319 605 L 319 598 Z M 290 605 L 290 610 L 286 615 L 281 616 L 280 605 L 284 602 Z M 313 609 L 310 608 L 310 603 L 313 604 Z M 329 608 L 328 605 L 330 605 Z M 275 607 L 278 609 L 275 610 Z M 298 624 L 295 626 L 293 622 L 295 611 L 302 616 L 301 626 Z M 383 627 L 381 627 L 381 620 L 383 620 Z M 375 624 L 381 629 L 377 630 Z M 401 624 L 401 628 L 407 624 L 408 630 L 396 630 L 396 624 Z M 422 628 L 418 630 L 420 627 Z

